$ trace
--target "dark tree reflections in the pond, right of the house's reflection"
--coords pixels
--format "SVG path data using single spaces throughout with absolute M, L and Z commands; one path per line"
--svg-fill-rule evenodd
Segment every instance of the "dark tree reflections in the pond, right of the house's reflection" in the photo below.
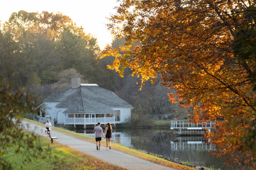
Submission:
M 178 161 L 187 160 L 196 166 L 214 166 L 215 168 L 225 169 L 223 166 L 224 161 L 221 158 L 216 158 L 208 150 L 173 150 L 171 141 L 180 145 L 180 139 L 176 139 L 176 135 L 171 131 L 153 131 L 151 129 L 137 129 L 131 133 L 131 142 L 134 148 L 168 156 L 169 158 Z M 187 141 L 200 141 L 199 138 L 187 137 L 182 142 L 188 145 Z M 204 142 L 205 139 L 202 139 Z

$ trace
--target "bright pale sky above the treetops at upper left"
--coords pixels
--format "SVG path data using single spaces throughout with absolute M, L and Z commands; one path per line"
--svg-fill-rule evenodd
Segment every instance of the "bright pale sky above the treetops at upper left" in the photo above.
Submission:
M 116 0 L 3 0 L 1 2 L 0 21 L 7 21 L 12 12 L 25 10 L 27 12 L 62 12 L 70 16 L 77 26 L 83 26 L 85 33 L 91 33 L 98 39 L 100 49 L 112 42 L 112 35 L 107 30 L 106 23 Z

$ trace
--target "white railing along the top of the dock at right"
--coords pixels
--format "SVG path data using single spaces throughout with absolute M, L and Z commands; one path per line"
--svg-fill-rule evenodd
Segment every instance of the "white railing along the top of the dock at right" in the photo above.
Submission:
M 202 123 L 189 123 L 188 121 L 183 121 L 183 120 L 171 120 L 171 129 L 176 129 L 176 128 L 211 129 L 211 128 L 215 128 L 215 123 L 214 121 L 202 122 Z

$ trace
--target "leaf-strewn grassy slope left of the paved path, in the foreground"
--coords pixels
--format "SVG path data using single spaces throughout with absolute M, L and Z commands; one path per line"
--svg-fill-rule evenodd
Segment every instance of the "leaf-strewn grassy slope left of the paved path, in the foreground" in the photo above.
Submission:
M 43 146 L 49 145 L 49 139 L 40 137 Z M 104 162 L 94 156 L 84 154 L 66 145 L 54 142 L 50 145 L 51 157 L 32 158 L 31 162 L 24 162 L 25 156 L 22 153 L 15 153 L 15 147 L 8 150 L 4 158 L 11 163 L 12 169 L 20 170 L 71 170 L 71 169 L 111 169 L 125 170 L 125 168 Z

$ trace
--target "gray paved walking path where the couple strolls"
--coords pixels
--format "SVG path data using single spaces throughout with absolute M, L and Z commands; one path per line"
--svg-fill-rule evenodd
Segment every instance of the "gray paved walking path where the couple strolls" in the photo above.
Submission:
M 27 130 L 34 131 L 34 133 L 37 133 L 38 135 L 45 136 L 43 127 L 34 125 L 33 123 L 27 121 L 22 121 L 22 123 Z M 27 127 L 27 125 L 29 126 Z M 101 150 L 96 150 L 96 144 L 82 141 L 53 130 L 51 131 L 51 135 L 52 137 L 58 137 L 58 139 L 54 140 L 58 141 L 59 143 L 68 145 L 74 149 L 80 150 L 81 152 L 100 158 L 101 160 L 104 160 L 110 164 L 122 166 L 130 170 L 175 170 L 174 168 L 156 164 L 154 162 L 150 162 L 124 152 L 119 152 L 114 149 L 106 150 L 106 147 L 101 147 Z

